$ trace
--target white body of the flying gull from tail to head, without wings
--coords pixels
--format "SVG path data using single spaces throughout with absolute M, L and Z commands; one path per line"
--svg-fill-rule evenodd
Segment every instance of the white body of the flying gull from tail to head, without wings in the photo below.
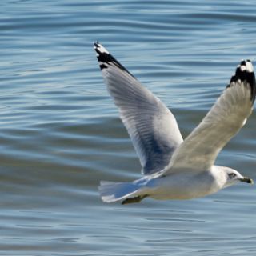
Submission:
M 158 200 L 185 200 L 192 198 L 202 198 L 209 194 L 214 194 L 226 186 L 231 186 L 243 179 L 238 172 L 238 179 L 227 183 L 226 171 L 236 172 L 224 166 L 212 166 L 210 170 L 178 170 L 170 171 L 170 175 L 151 174 L 134 182 L 113 183 L 102 182 L 100 192 L 104 202 L 115 202 L 131 197 L 143 197 L 144 195 Z M 114 184 L 117 186 L 118 194 L 115 194 Z M 109 185 L 109 186 L 107 186 Z M 122 187 L 123 190 L 120 190 Z M 103 189 L 104 188 L 104 189 Z M 106 193 L 106 188 L 111 190 L 111 196 Z M 132 193 L 129 191 L 132 190 Z M 123 191 L 123 195 L 121 194 Z M 127 193 L 128 192 L 128 193 Z M 113 196 L 114 195 L 114 196 Z

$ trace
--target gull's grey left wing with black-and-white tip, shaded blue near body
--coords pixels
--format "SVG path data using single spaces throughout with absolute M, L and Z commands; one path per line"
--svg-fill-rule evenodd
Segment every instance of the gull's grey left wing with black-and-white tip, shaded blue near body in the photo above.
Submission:
M 163 170 L 183 141 L 174 115 L 98 42 L 94 50 L 140 159 L 142 174 Z

